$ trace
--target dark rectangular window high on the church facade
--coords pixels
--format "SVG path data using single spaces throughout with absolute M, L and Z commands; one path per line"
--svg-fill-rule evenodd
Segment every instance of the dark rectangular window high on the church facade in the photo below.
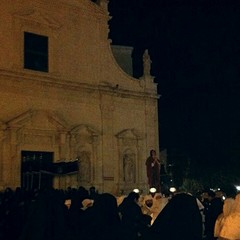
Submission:
M 48 72 L 48 37 L 24 32 L 24 68 Z

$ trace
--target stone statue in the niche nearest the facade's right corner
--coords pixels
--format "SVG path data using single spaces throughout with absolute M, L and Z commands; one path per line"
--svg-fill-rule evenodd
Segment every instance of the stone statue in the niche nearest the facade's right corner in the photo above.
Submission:
M 134 154 L 123 155 L 124 181 L 133 183 L 135 180 L 135 156 Z

